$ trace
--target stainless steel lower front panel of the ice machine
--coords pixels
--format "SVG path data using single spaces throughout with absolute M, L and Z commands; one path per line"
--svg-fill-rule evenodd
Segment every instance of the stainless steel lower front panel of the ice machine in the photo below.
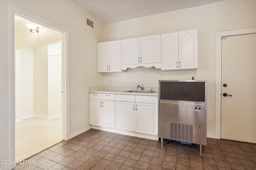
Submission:
M 160 101 L 160 122 L 159 137 L 206 145 L 204 105 Z

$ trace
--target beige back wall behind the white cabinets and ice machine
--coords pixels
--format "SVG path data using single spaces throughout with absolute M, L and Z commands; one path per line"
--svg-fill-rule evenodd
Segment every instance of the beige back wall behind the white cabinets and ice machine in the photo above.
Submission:
M 104 74 L 104 86 L 158 87 L 158 80 L 208 80 L 207 133 L 215 133 L 216 32 L 256 27 L 256 0 L 227 0 L 104 25 L 104 41 L 198 29 L 198 69 L 135 68 Z

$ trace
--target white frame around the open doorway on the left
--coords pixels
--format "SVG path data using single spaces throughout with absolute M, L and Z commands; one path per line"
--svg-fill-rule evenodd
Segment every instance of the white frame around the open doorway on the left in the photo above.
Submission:
M 24 10 L 16 8 L 15 6 L 9 5 L 9 160 L 15 160 L 15 21 L 14 16 L 18 15 L 26 20 L 30 20 L 34 23 L 43 25 L 50 29 L 54 29 L 62 33 L 62 137 L 68 140 L 69 137 L 69 31 L 39 18 L 33 14 L 30 14 Z M 10 165 L 14 168 L 14 165 Z

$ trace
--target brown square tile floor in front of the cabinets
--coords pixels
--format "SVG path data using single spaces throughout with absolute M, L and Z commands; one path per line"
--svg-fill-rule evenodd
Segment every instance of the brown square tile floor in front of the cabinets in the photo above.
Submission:
M 90 129 L 28 160 L 36 164 L 15 170 L 256 170 L 256 144 L 207 138 L 200 155 L 196 145 Z

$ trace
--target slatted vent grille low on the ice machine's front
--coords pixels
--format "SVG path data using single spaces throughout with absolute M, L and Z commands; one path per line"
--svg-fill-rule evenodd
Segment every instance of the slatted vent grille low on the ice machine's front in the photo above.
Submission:
M 171 140 L 192 143 L 193 125 L 171 123 Z

